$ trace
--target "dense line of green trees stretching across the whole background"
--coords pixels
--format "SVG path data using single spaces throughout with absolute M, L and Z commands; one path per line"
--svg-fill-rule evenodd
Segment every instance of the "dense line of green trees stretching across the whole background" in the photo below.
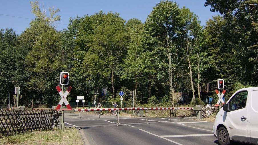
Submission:
M 257 2 L 207 0 L 205 6 L 221 16 L 205 26 L 190 9 L 162 0 L 144 23 L 99 11 L 71 18 L 63 31 L 53 25 L 61 19 L 59 9 L 49 9 L 47 16 L 38 1 L 31 2 L 36 18 L 29 28 L 21 35 L 1 29 L 0 103 L 8 104 L 9 92 L 13 103 L 14 87 L 20 86 L 19 104 L 33 100 L 36 106 L 56 105 L 61 71 L 70 73 L 70 102 L 77 95 L 84 95 L 86 102 L 95 95 L 97 101 L 112 102 L 120 100 L 121 90 L 125 102 L 131 102 L 127 93 L 133 90 L 137 104 L 153 98 L 168 101 L 169 53 L 174 92 L 200 98 L 200 92 L 214 92 L 221 78 L 227 100 L 235 90 L 258 84 Z M 108 95 L 101 95 L 105 87 Z

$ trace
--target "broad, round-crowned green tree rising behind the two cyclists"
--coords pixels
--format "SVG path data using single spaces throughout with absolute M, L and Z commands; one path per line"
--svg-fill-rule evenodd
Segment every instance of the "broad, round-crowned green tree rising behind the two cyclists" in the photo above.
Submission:
M 97 87 L 111 86 L 115 98 L 116 80 L 119 80 L 120 64 L 126 53 L 128 36 L 125 21 L 118 13 L 100 11 L 80 20 L 75 49 L 84 51 L 83 68 Z

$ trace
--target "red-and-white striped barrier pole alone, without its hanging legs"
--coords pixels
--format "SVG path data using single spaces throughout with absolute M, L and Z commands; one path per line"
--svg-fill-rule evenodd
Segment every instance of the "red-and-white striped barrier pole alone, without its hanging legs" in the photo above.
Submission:
M 106 110 L 174 110 L 174 109 L 193 109 L 193 107 L 168 107 L 168 108 L 92 108 L 74 109 L 74 111 L 106 111 Z

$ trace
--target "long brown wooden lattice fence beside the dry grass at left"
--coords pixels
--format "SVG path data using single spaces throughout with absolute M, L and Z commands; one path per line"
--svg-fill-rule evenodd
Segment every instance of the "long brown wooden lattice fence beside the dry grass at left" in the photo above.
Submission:
M 54 109 L 0 110 L 0 136 L 58 127 L 59 112 Z

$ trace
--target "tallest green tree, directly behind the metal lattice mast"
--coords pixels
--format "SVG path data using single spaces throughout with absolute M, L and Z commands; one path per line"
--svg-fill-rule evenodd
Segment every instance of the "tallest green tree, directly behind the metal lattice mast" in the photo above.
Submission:
M 178 38 L 182 33 L 183 21 L 178 5 L 168 0 L 160 1 L 148 15 L 145 25 L 150 35 L 160 41 L 157 47 L 151 51 L 153 53 L 152 57 L 156 59 L 156 63 L 153 63 L 153 65 L 158 71 L 151 78 L 152 84 L 156 84 L 156 87 L 162 87 L 156 88 L 159 93 L 164 91 L 167 94 L 169 89 L 169 53 L 174 54 L 172 55 L 172 68 L 176 68 L 182 59 L 182 55 L 178 55 L 178 53 L 182 52 L 181 48 L 178 47 Z M 173 73 L 175 74 L 175 72 Z

